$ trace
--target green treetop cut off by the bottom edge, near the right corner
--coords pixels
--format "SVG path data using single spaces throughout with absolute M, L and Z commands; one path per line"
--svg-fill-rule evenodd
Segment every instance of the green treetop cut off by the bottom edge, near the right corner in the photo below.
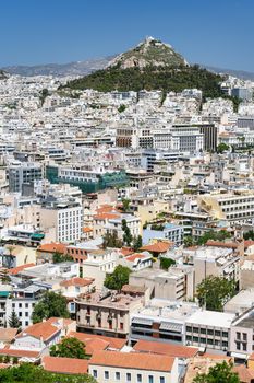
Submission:
M 239 375 L 232 371 L 232 364 L 223 361 L 209 368 L 207 374 L 202 373 L 194 378 L 193 383 L 240 383 Z

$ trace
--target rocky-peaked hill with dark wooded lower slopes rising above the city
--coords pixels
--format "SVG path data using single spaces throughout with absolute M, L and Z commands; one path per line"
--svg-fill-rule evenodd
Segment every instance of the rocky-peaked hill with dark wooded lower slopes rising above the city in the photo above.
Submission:
M 125 54 L 117 56 L 106 69 L 70 81 L 71 90 L 100 92 L 161 90 L 164 93 L 197 88 L 205 97 L 222 96 L 223 78 L 199 66 L 189 66 L 170 45 L 149 37 Z

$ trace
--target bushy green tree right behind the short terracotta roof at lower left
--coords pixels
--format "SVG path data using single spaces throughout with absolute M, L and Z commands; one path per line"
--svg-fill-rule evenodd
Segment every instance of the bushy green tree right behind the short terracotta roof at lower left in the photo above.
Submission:
M 50 347 L 51 357 L 88 359 L 85 345 L 77 338 L 63 338 L 61 343 Z

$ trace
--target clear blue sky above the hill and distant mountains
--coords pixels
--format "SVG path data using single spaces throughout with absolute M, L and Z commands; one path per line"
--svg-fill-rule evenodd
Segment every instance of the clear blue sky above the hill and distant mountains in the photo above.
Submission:
M 253 0 L 1 0 L 0 67 L 122 53 L 145 36 L 188 61 L 254 72 Z

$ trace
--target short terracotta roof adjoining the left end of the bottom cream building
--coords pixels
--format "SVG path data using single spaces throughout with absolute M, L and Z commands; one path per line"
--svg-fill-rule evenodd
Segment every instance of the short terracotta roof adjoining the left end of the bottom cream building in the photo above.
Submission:
M 45 370 L 56 373 L 84 374 L 88 371 L 88 360 L 76 358 L 44 357 Z

